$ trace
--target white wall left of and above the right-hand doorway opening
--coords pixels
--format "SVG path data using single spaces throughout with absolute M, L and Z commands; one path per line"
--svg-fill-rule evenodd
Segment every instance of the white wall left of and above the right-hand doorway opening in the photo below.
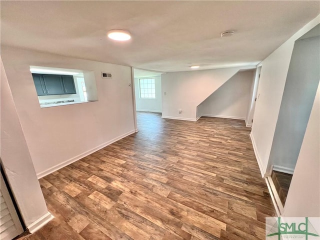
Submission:
M 319 20 L 319 16 L 314 18 L 261 62 L 250 136 L 262 176 L 269 167 L 268 159 L 294 41 L 318 24 Z

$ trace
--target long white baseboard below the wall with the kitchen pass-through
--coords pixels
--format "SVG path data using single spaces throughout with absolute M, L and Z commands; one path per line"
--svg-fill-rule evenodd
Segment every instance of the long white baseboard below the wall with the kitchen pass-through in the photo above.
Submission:
M 87 155 L 89 155 L 89 154 L 91 154 L 91 153 L 93 153 L 93 152 L 95 152 L 95 151 L 107 146 L 107 145 L 110 145 L 111 143 L 113 143 L 115 141 L 118 141 L 118 140 L 122 139 L 123 137 L 131 135 L 134 132 L 137 132 L 137 129 L 128 131 L 127 133 L 124 133 L 124 134 L 122 134 L 120 136 L 117 136 L 117 137 L 115 137 L 115 138 L 113 138 L 113 139 L 111 139 L 111 140 L 109 140 L 107 142 L 104 142 L 104 143 L 102 143 L 102 144 L 100 144 L 100 145 L 98 145 L 98 146 L 96 146 L 96 147 L 94 147 L 94 148 L 92 148 L 90 150 L 82 152 L 81 154 L 78 154 L 78 155 L 76 155 L 76 156 L 74 156 L 74 157 L 72 157 L 72 158 L 70 158 L 70 159 L 68 159 L 66 161 L 63 161 L 63 162 L 61 162 L 59 164 L 56 164 L 55 166 L 52 166 L 49 169 L 46 169 L 44 171 L 41 171 L 41 172 L 37 173 L 36 176 L 37 176 L 38 179 L 43 177 L 43 176 L 46 176 L 46 175 L 48 175 L 48 174 L 50 174 L 50 173 L 52 173 L 52 172 L 64 167 L 64 166 L 66 166 L 66 165 L 71 164 L 72 162 L 75 162 L 75 161 L 77 161 L 77 160 L 79 160 L 79 159 L 81 159 L 81 158 L 83 158 L 83 157 L 85 157 L 85 156 L 87 156 Z

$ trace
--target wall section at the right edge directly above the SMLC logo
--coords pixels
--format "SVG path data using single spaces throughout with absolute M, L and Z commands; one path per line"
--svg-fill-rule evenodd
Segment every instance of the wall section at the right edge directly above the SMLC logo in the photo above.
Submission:
M 284 216 L 320 216 L 320 87 L 284 205 Z

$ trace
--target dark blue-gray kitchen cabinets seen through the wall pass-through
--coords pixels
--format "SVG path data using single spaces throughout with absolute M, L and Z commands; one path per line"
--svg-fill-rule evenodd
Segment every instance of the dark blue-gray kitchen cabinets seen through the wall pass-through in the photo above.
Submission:
M 32 73 L 38 96 L 76 94 L 73 76 Z

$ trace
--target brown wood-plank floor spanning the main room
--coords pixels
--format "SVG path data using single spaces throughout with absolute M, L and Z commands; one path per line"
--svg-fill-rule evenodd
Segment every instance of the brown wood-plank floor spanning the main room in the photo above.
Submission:
M 28 240 L 265 239 L 274 214 L 243 120 L 138 112 L 139 132 L 41 178 Z

